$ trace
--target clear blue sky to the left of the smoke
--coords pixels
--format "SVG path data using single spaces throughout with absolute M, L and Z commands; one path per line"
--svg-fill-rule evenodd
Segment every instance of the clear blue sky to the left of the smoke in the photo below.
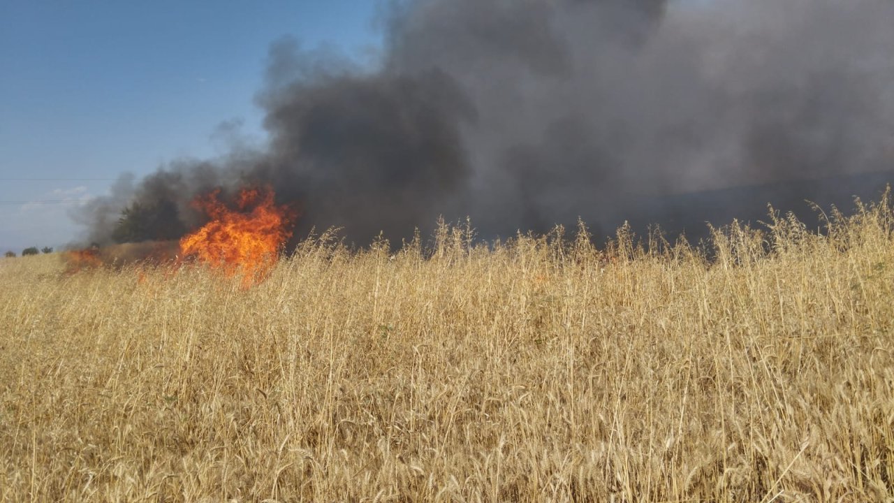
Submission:
M 0 0 L 0 253 L 76 236 L 72 202 L 260 134 L 253 103 L 283 36 L 375 52 L 374 0 Z

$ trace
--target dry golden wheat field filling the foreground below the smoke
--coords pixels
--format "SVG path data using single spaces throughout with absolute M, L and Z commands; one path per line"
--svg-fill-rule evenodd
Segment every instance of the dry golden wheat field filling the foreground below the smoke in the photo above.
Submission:
M 894 501 L 894 212 L 0 261 L 3 501 Z

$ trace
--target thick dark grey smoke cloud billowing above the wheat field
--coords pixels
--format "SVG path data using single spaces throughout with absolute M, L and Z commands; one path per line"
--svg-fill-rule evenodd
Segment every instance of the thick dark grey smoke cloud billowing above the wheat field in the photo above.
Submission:
M 578 217 L 682 229 L 713 208 L 685 194 L 769 184 L 784 205 L 894 168 L 890 0 L 410 0 L 382 17 L 374 70 L 274 43 L 266 145 L 97 201 L 91 239 L 175 238 L 196 195 L 245 184 L 299 204 L 297 237 L 355 243 L 441 215 L 485 237 Z M 733 199 L 761 210 L 760 193 Z M 122 200 L 139 225 L 122 230 Z

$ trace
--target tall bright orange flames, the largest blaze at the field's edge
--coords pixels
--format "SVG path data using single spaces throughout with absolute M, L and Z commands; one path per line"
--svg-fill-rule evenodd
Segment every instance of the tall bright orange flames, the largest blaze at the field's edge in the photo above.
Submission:
M 227 275 L 241 270 L 243 286 L 263 278 L 291 237 L 297 213 L 289 205 L 276 206 L 274 192 L 242 189 L 234 208 L 218 200 L 220 190 L 193 201 L 210 221 L 180 240 L 182 256 L 195 257 Z

